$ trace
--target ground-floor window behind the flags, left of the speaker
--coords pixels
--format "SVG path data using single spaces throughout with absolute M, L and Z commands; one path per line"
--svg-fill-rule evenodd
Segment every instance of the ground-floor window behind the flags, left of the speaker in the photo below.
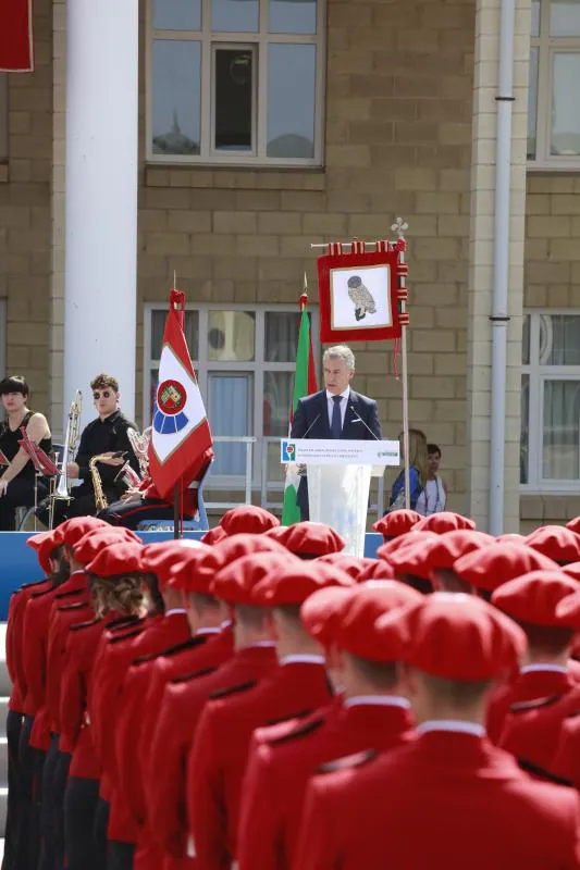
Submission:
M 145 313 L 145 425 L 151 419 L 166 308 Z M 256 436 L 254 485 L 282 489 L 280 438 L 288 431 L 299 312 L 245 306 L 188 307 L 185 335 L 214 436 Z M 316 318 L 316 312 L 310 312 Z M 313 328 L 313 335 L 317 335 Z M 318 348 L 314 348 L 317 353 Z M 243 488 L 246 445 L 220 443 L 212 488 Z

